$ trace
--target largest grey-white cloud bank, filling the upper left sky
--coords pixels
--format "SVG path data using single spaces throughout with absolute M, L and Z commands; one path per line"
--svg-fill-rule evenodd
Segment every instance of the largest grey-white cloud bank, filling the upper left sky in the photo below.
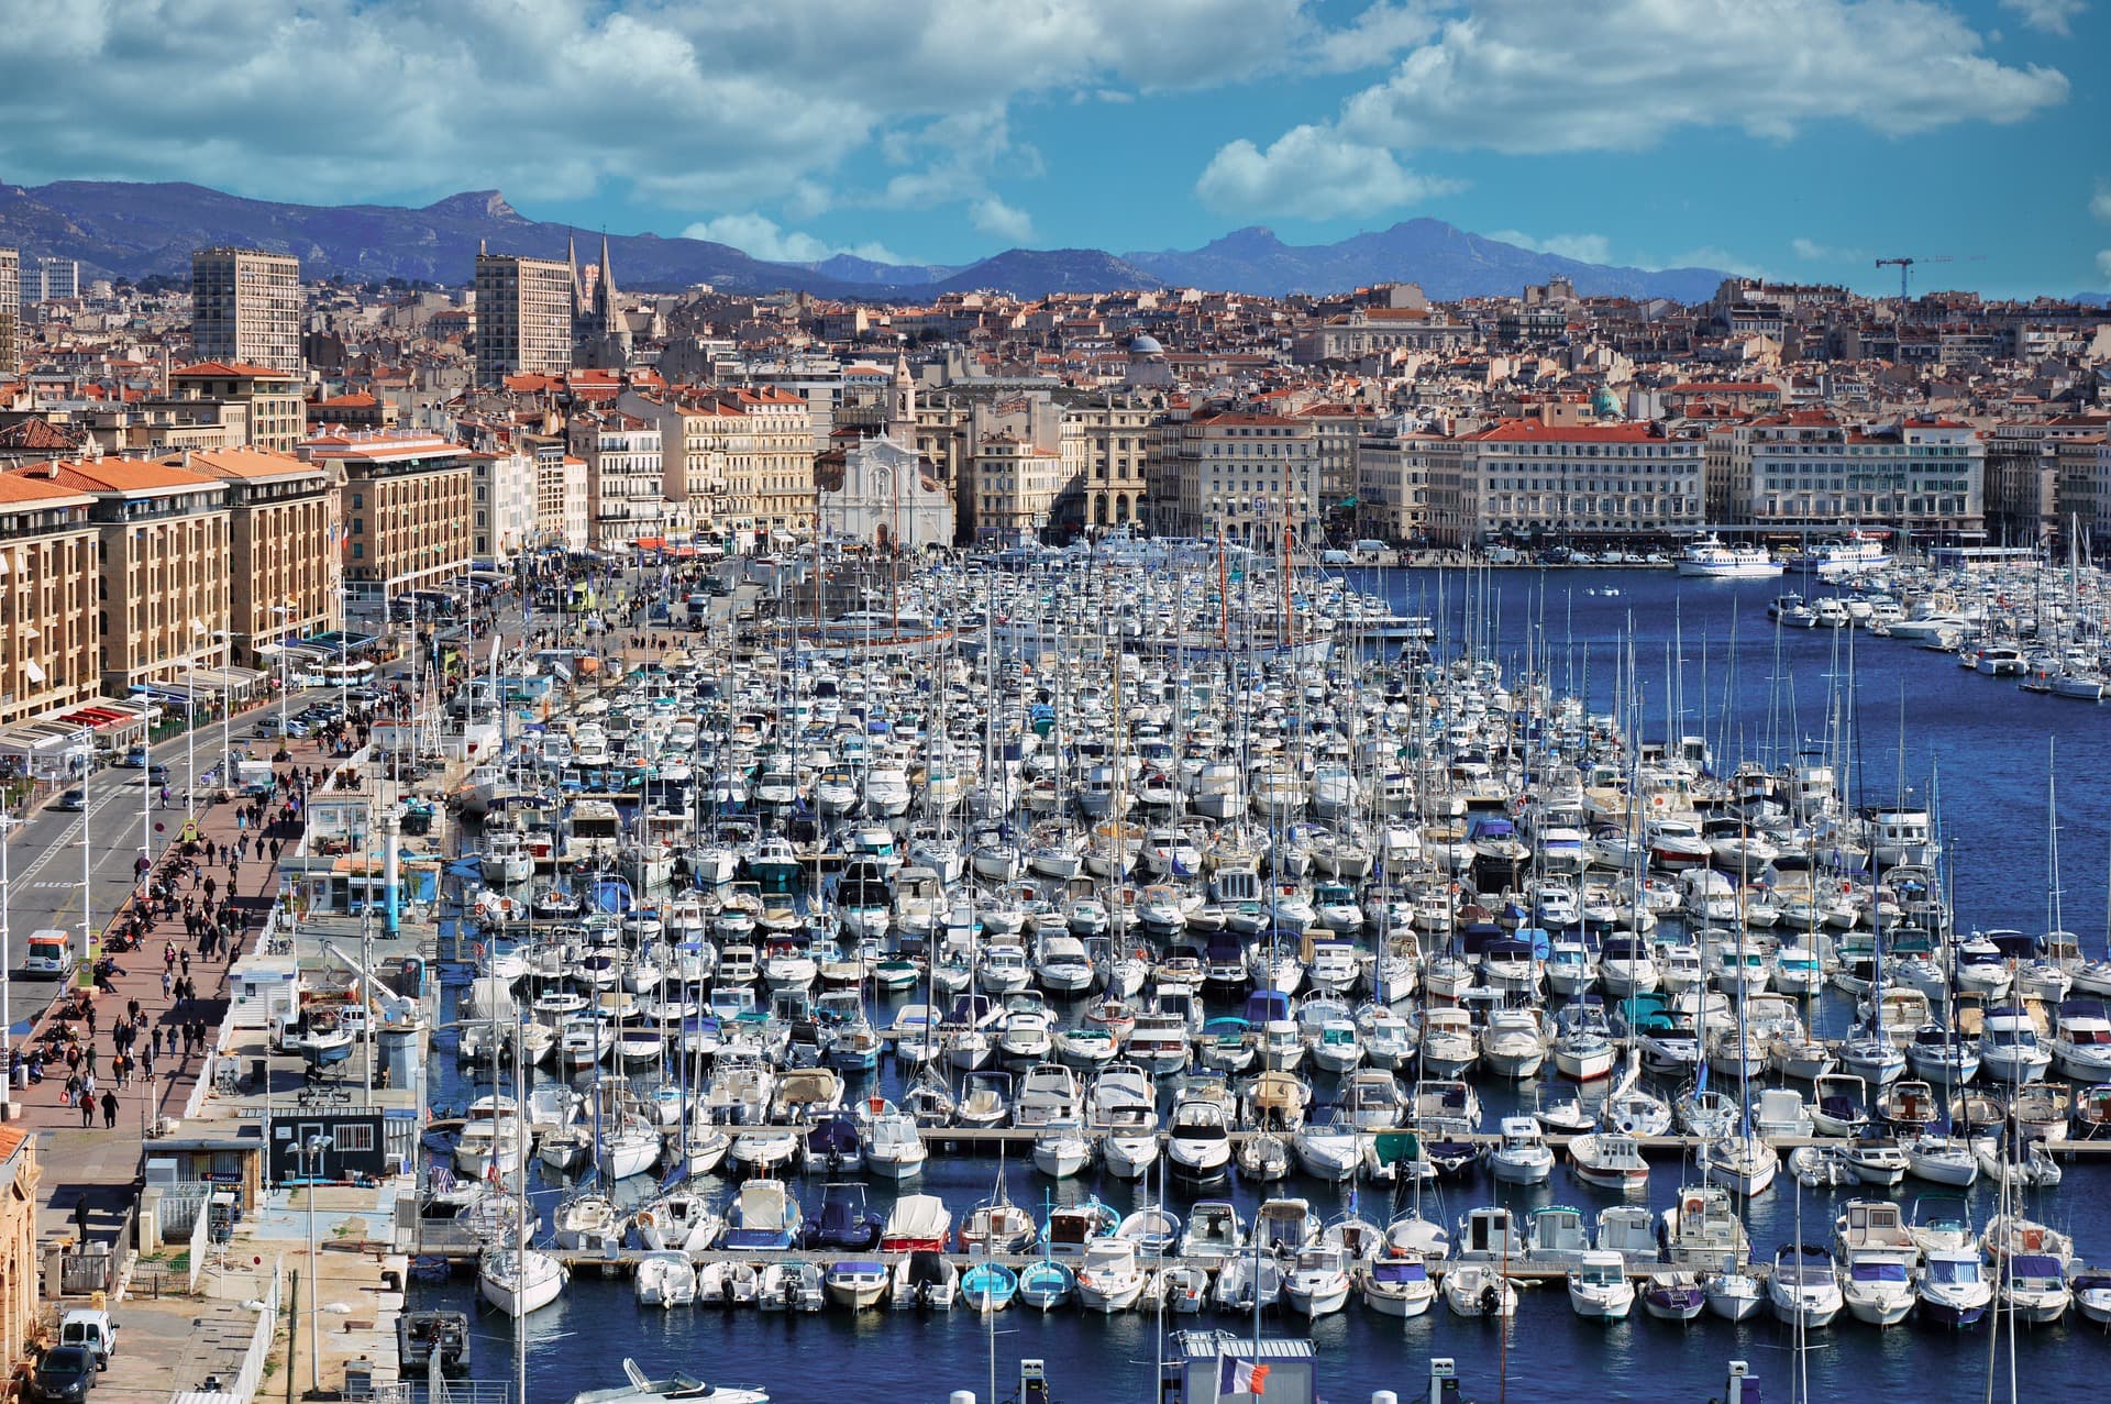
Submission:
M 1307 0 L 78 0 L 0 6 L 6 177 L 192 179 L 306 201 L 638 192 L 671 207 L 872 198 L 895 131 L 973 203 L 984 114 L 1277 70 Z M 241 34 L 239 46 L 226 36 Z M 952 118 L 971 146 L 948 150 Z M 1037 163 L 1005 152 L 1032 169 Z M 939 190 L 944 194 L 931 196 Z

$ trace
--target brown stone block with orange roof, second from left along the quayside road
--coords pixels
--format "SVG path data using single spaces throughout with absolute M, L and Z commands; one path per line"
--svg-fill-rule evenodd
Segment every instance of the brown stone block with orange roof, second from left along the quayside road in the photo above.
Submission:
M 84 458 L 17 477 L 93 498 L 97 661 L 106 697 L 228 657 L 232 572 L 226 483 L 141 458 Z

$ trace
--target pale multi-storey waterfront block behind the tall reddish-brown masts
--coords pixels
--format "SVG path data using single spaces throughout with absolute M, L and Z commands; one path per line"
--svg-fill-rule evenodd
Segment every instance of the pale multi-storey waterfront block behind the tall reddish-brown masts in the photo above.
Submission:
M 1172 521 L 1161 530 L 1201 536 L 1224 528 L 1275 549 L 1283 530 L 1309 530 L 1319 505 L 1317 435 L 1277 414 L 1203 414 L 1165 441 Z

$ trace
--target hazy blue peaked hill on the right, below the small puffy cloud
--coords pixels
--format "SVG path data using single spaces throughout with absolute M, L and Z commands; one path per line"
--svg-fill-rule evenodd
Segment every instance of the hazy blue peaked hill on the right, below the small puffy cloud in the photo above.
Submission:
M 1729 277 L 1718 268 L 1617 268 L 1469 234 L 1442 220 L 1408 220 L 1340 243 L 1286 245 L 1271 230 L 1243 228 L 1201 249 L 1127 253 L 1138 268 L 1182 287 L 1222 287 L 1281 298 L 1334 293 L 1370 283 L 1421 283 L 1440 302 L 1516 293 L 1566 274 L 1583 296 L 1704 302 Z

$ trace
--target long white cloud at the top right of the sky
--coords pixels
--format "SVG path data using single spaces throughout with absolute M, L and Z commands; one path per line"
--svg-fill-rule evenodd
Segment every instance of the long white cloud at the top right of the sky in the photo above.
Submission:
M 1349 97 L 1345 137 L 1389 150 L 1638 150 L 1680 127 L 1790 137 L 2014 122 L 2067 99 L 1934 0 L 1480 0 Z

